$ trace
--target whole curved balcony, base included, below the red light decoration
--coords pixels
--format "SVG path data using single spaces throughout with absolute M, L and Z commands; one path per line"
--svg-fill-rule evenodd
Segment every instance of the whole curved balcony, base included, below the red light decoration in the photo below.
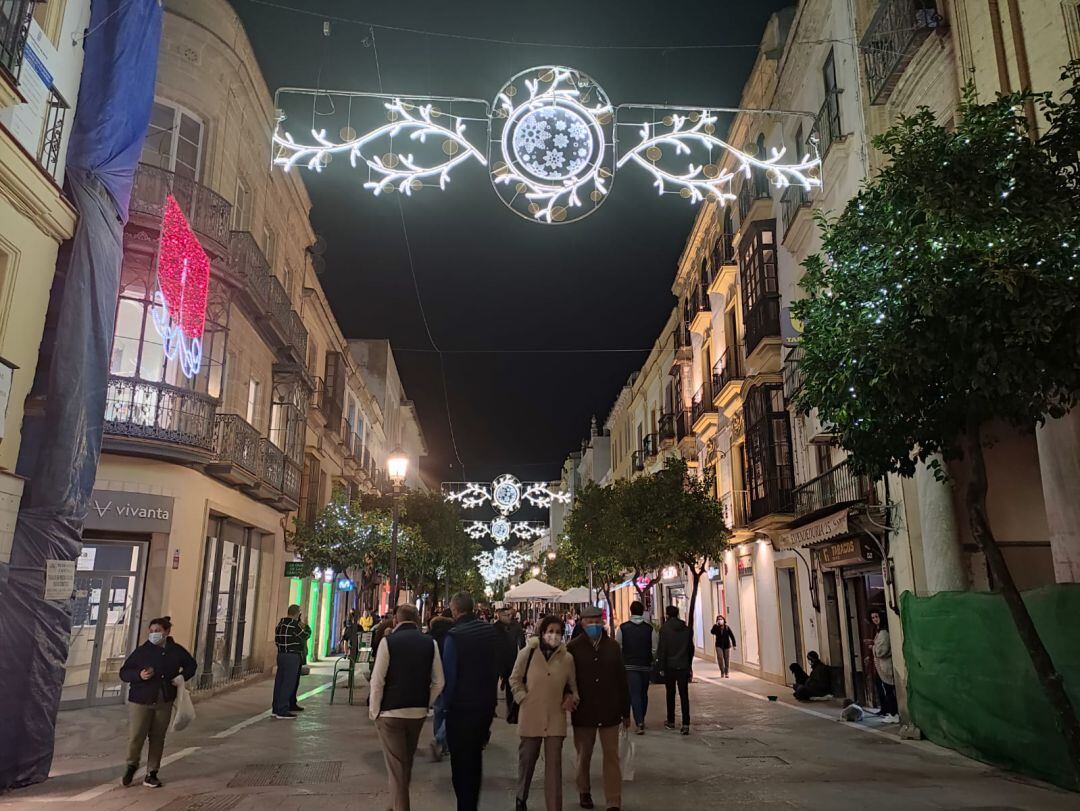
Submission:
M 106 450 L 174 461 L 204 461 L 214 450 L 217 401 L 205 394 L 109 376 Z

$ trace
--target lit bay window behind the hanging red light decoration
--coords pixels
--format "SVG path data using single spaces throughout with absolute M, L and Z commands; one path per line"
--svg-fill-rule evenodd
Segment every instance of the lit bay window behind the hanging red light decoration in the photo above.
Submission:
M 118 377 L 192 389 L 212 397 L 221 395 L 228 339 L 229 301 L 220 285 L 211 284 L 203 328 L 202 367 L 185 377 L 179 359 L 168 360 L 153 325 L 158 288 L 152 255 L 125 252 L 120 271 L 120 297 L 112 334 L 109 371 Z

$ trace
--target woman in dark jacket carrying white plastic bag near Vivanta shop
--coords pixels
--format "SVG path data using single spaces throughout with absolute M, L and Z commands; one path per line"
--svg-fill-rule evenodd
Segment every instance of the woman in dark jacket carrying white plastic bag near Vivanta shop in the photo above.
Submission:
M 132 651 L 120 668 L 121 681 L 129 685 L 127 769 L 121 781 L 125 786 L 135 779 L 143 744 L 149 740 L 143 785 L 161 788 L 158 770 L 173 716 L 177 679 L 190 681 L 199 666 L 184 646 L 168 635 L 172 630 L 168 617 L 150 620 L 147 640 Z

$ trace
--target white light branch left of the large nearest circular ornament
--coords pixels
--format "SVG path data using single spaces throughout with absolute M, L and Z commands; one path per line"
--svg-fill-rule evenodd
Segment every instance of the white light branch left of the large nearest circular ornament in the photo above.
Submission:
M 487 159 L 465 137 L 465 122 L 454 116 L 446 116 L 454 121 L 454 126 L 443 126 L 432 120 L 433 116 L 445 116 L 434 110 L 431 104 L 410 105 L 400 98 L 383 105 L 390 117 L 390 123 L 376 127 L 368 133 L 357 135 L 342 143 L 329 140 L 325 130 L 312 130 L 314 144 L 297 144 L 287 132 L 274 133 L 273 143 L 278 148 L 273 162 L 288 172 L 297 163 L 305 163 L 308 168 L 322 172 L 329 163 L 330 156 L 347 153 L 353 167 L 360 164 L 367 166 L 373 179 L 364 184 L 375 195 L 396 188 L 404 194 L 411 195 L 414 189 L 423 186 L 429 178 L 438 178 L 438 188 L 445 189 L 450 180 L 450 170 L 470 159 L 487 165 Z M 446 159 L 433 166 L 424 166 L 411 152 L 387 152 L 382 156 L 367 156 L 364 147 L 380 138 L 394 138 L 407 134 L 410 140 L 426 144 L 430 136 L 442 139 L 442 151 Z

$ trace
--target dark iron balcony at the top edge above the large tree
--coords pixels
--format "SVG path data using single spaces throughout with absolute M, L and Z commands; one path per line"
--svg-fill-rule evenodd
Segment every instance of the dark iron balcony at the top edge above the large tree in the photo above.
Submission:
M 860 43 L 872 105 L 889 100 L 919 46 L 942 23 L 933 0 L 882 0 Z

